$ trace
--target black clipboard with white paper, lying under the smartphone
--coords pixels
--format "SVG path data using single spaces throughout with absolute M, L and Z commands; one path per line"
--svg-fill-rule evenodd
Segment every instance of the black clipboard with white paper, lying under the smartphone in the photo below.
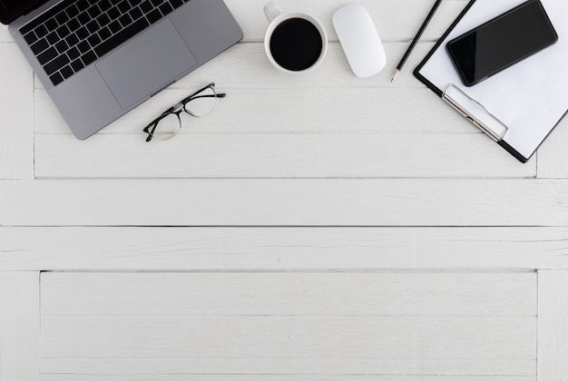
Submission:
M 495 76 L 466 87 L 446 43 L 525 0 L 471 0 L 414 75 L 436 95 L 509 151 L 518 161 L 534 155 L 568 114 L 568 1 L 541 0 L 558 41 Z

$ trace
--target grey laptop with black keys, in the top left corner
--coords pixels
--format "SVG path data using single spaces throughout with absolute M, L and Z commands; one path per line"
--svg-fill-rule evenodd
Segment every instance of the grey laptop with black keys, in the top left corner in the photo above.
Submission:
M 243 36 L 223 0 L 0 0 L 0 22 L 80 140 Z

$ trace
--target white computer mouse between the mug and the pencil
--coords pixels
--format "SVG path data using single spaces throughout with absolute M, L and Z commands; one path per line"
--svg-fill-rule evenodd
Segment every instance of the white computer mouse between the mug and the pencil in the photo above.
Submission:
M 371 16 L 361 5 L 346 5 L 333 15 L 333 26 L 353 73 L 368 78 L 387 64 L 385 48 Z

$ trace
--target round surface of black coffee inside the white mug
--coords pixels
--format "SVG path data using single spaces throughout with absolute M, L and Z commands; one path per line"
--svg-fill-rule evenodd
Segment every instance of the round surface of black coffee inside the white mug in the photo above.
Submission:
M 300 17 L 284 20 L 270 37 L 270 54 L 280 66 L 293 72 L 316 64 L 322 49 L 318 27 Z

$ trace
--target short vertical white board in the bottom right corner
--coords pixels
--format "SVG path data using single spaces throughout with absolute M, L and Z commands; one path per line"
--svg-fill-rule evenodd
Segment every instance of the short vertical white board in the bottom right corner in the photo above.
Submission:
M 568 379 L 568 271 L 538 272 L 539 381 Z

